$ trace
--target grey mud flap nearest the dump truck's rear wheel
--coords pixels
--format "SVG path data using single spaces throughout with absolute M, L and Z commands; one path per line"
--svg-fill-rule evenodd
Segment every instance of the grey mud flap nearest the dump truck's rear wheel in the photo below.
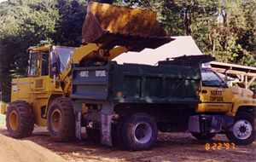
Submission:
M 111 121 L 113 114 L 102 114 L 102 130 L 101 130 L 101 143 L 104 145 L 112 146 L 111 138 Z

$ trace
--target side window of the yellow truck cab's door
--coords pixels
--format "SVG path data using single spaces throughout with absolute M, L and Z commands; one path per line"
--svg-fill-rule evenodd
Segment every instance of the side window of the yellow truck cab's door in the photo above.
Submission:
M 224 85 L 224 81 L 218 77 L 218 75 L 215 72 L 212 72 L 211 70 L 201 70 L 201 80 L 203 86 L 208 87 L 221 87 Z

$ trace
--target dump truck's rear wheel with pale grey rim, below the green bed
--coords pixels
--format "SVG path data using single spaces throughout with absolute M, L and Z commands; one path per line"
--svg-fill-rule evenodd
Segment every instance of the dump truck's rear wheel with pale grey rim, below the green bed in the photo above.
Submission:
M 148 113 L 134 113 L 125 119 L 122 131 L 125 148 L 130 150 L 148 150 L 157 139 L 157 126 Z

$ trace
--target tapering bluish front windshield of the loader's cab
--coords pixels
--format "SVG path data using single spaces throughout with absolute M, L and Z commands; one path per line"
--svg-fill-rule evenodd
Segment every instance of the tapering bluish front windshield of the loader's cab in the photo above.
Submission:
M 61 73 L 64 71 L 67 66 L 67 62 L 73 55 L 75 48 L 67 48 L 67 47 L 56 47 L 57 57 L 59 60 L 59 66 Z

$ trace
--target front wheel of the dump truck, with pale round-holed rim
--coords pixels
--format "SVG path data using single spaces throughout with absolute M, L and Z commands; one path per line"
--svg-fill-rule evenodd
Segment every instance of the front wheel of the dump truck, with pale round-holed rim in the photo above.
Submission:
M 230 142 L 247 145 L 256 139 L 256 119 L 249 113 L 238 113 L 233 124 L 233 131 L 227 131 Z

